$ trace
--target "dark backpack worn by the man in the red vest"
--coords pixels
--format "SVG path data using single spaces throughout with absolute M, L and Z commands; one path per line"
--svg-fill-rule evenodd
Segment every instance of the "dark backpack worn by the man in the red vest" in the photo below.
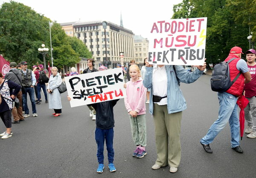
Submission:
M 211 78 L 211 88 L 212 91 L 217 92 L 224 92 L 227 91 L 233 83 L 236 82 L 236 80 L 241 75 L 241 72 L 236 76 L 233 81 L 230 79 L 230 70 L 229 70 L 229 63 L 237 58 L 232 58 L 228 62 L 220 62 L 219 64 L 216 64 L 212 71 L 212 78 Z

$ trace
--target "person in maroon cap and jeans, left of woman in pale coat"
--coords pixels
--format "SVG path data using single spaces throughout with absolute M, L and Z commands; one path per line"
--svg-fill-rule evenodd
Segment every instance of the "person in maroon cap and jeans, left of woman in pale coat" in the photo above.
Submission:
M 40 65 L 38 65 L 38 68 L 39 68 L 39 70 L 34 72 L 36 82 L 37 82 L 37 91 L 38 91 L 38 101 L 36 102 L 36 104 L 41 104 L 40 102 L 42 102 L 41 88 L 43 89 L 43 92 L 44 92 L 45 102 L 48 103 L 45 83 L 47 83 L 49 81 L 49 78 L 45 74 L 44 65 L 40 64 Z

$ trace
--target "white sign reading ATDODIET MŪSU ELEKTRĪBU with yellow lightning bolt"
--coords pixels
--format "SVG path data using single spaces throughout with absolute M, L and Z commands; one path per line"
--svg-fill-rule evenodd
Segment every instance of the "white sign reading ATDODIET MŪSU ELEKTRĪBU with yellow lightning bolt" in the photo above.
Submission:
M 207 17 L 153 22 L 148 47 L 149 64 L 203 65 Z

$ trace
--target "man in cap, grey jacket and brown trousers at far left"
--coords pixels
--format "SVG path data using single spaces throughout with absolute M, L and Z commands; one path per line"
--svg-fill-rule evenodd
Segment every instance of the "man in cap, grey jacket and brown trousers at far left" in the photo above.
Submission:
M 21 86 L 21 73 L 17 70 L 17 63 L 10 63 L 10 71 L 6 73 L 5 79 L 15 82 L 17 85 Z M 12 124 L 19 124 L 20 121 L 24 121 L 24 117 L 22 114 L 22 91 L 20 89 L 17 94 L 17 99 L 20 101 L 20 106 L 16 108 L 15 106 L 12 108 L 13 122 Z

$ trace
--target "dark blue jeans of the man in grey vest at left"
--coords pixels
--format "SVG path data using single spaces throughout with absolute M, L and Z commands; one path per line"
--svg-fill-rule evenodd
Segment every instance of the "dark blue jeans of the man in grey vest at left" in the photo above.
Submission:
M 33 113 L 36 113 L 34 88 L 24 87 L 24 89 L 25 89 L 25 93 L 22 94 L 22 102 L 23 102 L 23 108 L 24 108 L 25 114 L 29 114 L 29 108 L 27 104 L 27 93 L 29 93 L 29 98 L 32 104 L 32 111 Z

